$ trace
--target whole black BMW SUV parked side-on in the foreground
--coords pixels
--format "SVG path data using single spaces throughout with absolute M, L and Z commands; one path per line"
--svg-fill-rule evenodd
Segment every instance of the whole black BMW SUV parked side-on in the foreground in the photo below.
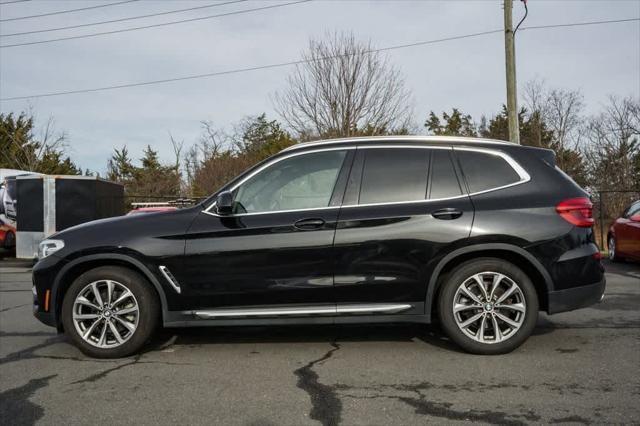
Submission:
M 553 152 L 369 137 L 295 145 L 203 203 L 90 222 L 42 242 L 34 312 L 86 354 L 154 329 L 430 323 L 465 350 L 513 350 L 598 302 L 587 194 Z

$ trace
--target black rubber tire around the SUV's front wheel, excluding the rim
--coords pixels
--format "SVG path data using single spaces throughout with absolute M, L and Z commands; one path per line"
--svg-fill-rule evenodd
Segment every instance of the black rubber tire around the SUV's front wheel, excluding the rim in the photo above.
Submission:
M 138 327 L 133 336 L 115 348 L 98 348 L 82 339 L 72 319 L 73 302 L 78 293 L 94 281 L 113 280 L 127 287 L 138 302 Z M 122 358 L 138 352 L 152 337 L 160 319 L 158 298 L 149 284 L 140 274 L 127 268 L 102 266 L 80 275 L 67 290 L 62 304 L 62 323 L 65 333 L 86 355 L 94 358 Z

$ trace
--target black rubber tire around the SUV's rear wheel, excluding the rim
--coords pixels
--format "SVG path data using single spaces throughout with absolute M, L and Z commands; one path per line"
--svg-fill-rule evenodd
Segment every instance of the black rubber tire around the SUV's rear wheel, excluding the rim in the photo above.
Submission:
M 500 343 L 480 343 L 458 327 L 453 314 L 453 300 L 458 286 L 479 272 L 499 272 L 518 284 L 525 298 L 525 320 L 515 335 Z M 538 319 L 538 296 L 531 279 L 516 265 L 502 259 L 481 258 L 467 261 L 452 271 L 439 293 L 438 317 L 445 333 L 464 350 L 482 355 L 504 354 L 520 346 L 533 332 Z

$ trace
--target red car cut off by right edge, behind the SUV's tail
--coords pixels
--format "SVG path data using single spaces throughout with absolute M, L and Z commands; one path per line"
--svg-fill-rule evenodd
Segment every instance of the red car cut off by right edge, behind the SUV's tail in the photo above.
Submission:
M 640 200 L 616 219 L 607 234 L 609 259 L 640 261 Z

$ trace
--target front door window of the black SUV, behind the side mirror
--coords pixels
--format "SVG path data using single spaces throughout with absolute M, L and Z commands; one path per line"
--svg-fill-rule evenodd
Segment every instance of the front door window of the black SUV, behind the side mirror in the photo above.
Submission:
M 235 213 L 328 207 L 346 151 L 296 155 L 268 166 L 234 191 Z

